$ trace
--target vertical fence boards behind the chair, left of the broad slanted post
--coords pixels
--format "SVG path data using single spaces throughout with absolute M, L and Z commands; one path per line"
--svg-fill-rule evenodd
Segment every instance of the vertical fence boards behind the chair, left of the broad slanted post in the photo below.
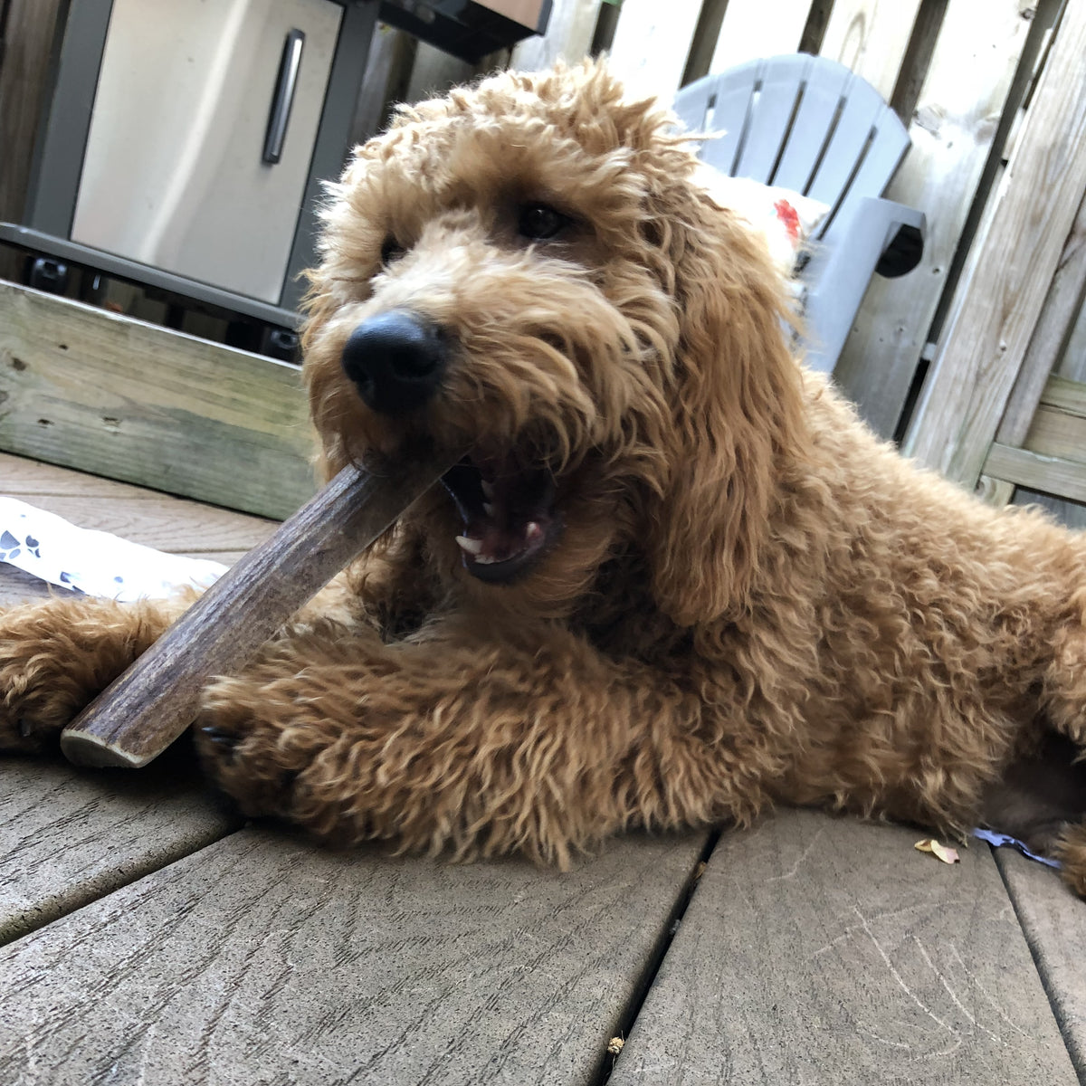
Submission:
M 669 99 L 707 73 L 800 50 L 841 61 L 877 88 L 912 138 L 887 195 L 926 213 L 927 245 L 910 275 L 872 283 L 835 376 L 867 420 L 894 437 L 904 432 L 910 392 L 934 355 L 1059 7 L 1057 0 L 623 0 L 620 7 L 555 0 L 546 38 L 489 61 L 535 68 L 606 50 L 632 90 Z M 455 61 L 435 63 L 433 54 L 419 50 L 408 99 L 471 75 Z

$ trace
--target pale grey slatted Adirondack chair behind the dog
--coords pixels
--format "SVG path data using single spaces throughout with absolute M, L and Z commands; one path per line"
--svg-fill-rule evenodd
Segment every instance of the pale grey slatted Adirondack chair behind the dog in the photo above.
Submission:
M 702 144 L 704 162 L 830 206 L 801 280 L 807 364 L 832 371 L 871 276 L 905 275 L 923 253 L 923 213 L 882 199 L 908 131 L 867 80 L 804 53 L 705 76 L 674 109 L 691 131 L 723 131 Z

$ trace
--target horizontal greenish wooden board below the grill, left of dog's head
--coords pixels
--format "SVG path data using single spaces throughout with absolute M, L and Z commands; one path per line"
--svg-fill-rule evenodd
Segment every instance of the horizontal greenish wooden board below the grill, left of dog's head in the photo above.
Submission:
M 316 489 L 295 367 L 3 282 L 0 447 L 280 518 Z

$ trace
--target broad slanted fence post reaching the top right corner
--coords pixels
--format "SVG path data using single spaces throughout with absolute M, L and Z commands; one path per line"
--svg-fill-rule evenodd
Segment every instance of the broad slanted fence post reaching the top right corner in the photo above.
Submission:
M 1086 4 L 1066 7 L 906 442 L 973 487 L 1086 191 Z

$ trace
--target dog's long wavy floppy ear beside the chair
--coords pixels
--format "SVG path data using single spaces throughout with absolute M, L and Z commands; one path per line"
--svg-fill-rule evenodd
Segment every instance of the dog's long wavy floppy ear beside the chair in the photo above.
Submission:
M 803 455 L 800 377 L 783 283 L 742 220 L 679 185 L 652 231 L 673 276 L 680 339 L 669 477 L 651 510 L 648 554 L 660 608 L 692 626 L 750 602 L 782 473 Z

